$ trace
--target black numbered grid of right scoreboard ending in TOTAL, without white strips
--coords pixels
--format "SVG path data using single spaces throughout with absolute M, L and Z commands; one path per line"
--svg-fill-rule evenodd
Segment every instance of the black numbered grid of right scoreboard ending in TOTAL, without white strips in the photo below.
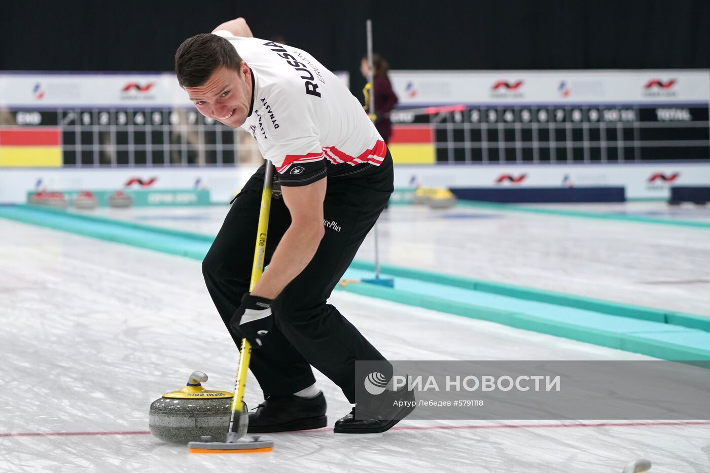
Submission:
M 395 112 L 432 128 L 437 163 L 710 163 L 707 104 L 465 106 Z

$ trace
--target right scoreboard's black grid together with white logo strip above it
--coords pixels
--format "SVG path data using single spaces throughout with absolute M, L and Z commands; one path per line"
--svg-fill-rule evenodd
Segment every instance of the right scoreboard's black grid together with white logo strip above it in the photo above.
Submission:
M 391 81 L 395 136 L 430 131 L 436 164 L 710 163 L 707 70 L 393 71 Z M 442 105 L 456 110 L 413 110 Z

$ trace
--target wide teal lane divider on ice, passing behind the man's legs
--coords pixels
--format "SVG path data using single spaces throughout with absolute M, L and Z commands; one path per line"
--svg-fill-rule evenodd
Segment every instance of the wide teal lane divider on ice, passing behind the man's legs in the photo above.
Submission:
M 201 260 L 214 237 L 146 224 L 26 205 L 2 206 L 17 222 Z M 382 265 L 395 288 L 348 283 L 341 290 L 488 320 L 524 330 L 672 360 L 710 359 L 710 317 L 583 298 L 420 269 Z M 373 276 L 373 263 L 354 261 L 344 278 Z

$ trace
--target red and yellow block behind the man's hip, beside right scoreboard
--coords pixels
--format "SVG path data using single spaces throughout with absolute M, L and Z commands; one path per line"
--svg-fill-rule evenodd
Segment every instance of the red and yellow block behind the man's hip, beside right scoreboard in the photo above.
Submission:
M 387 144 L 395 164 L 434 164 L 434 130 L 430 125 L 394 125 Z

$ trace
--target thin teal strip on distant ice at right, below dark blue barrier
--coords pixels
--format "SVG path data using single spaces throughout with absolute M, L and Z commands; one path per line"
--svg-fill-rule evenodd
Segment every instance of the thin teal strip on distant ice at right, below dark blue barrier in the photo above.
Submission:
M 710 229 L 710 222 L 696 222 L 694 220 L 663 219 L 645 217 L 643 215 L 606 214 L 603 212 L 585 212 L 582 210 L 546 209 L 542 207 L 525 207 L 523 205 L 500 204 L 496 202 L 481 202 L 474 200 L 459 200 L 458 205 L 464 207 L 477 207 L 488 210 L 501 210 L 508 212 L 527 212 L 531 214 L 546 214 L 556 217 L 579 217 L 584 219 L 616 220 L 619 222 L 648 223 L 658 225 L 674 225 L 676 227 L 692 227 Z

